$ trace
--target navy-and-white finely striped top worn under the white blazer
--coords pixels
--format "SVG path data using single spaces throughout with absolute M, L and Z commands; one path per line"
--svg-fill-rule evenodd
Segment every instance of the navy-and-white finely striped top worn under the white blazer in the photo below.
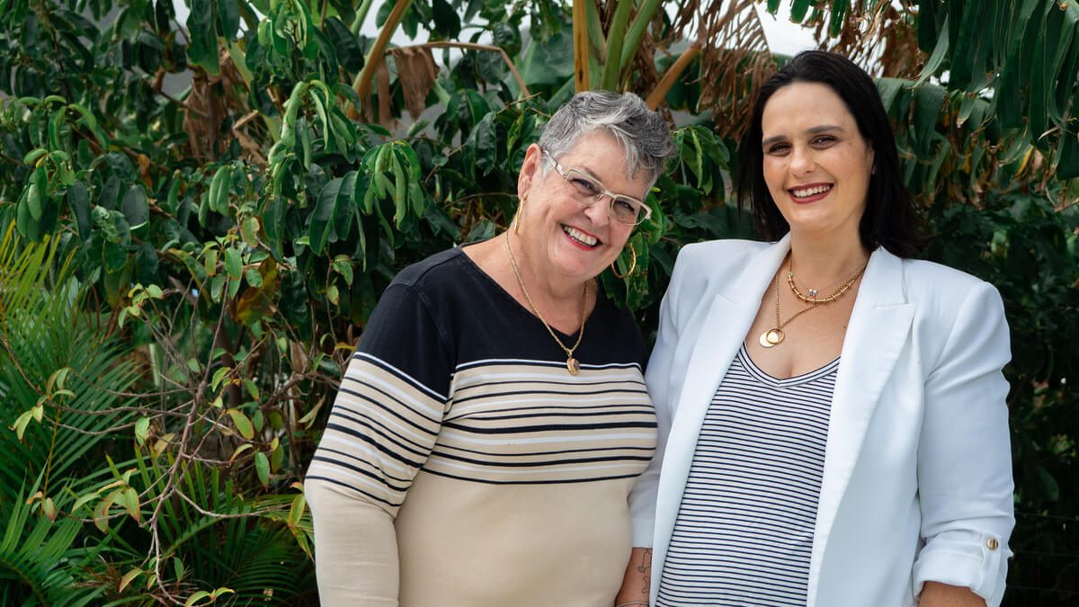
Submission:
M 806 604 L 838 366 L 776 379 L 742 346 L 705 416 L 657 606 Z

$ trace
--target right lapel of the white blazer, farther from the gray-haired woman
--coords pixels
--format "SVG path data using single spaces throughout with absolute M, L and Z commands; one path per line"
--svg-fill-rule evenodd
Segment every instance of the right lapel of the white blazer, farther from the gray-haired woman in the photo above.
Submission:
M 809 563 L 809 607 L 816 603 L 824 549 L 870 419 L 911 329 L 914 305 L 906 302 L 902 285 L 902 260 L 883 248 L 874 252 L 850 314 L 832 395 Z

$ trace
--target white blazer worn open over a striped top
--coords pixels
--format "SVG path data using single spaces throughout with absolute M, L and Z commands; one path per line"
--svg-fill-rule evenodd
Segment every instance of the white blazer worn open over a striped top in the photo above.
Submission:
M 654 549 L 653 604 L 705 414 L 789 249 L 790 235 L 713 241 L 674 266 L 646 374 L 659 446 L 630 498 L 633 545 Z M 991 284 L 872 254 L 832 399 L 808 607 L 905 607 L 926 581 L 999 605 L 1014 525 L 1009 359 Z

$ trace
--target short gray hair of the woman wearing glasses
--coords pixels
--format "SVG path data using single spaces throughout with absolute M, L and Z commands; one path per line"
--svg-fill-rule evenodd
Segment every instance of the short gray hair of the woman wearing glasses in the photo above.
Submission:
M 670 126 L 659 112 L 648 109 L 633 93 L 587 91 L 566 102 L 540 136 L 540 147 L 558 159 L 573 149 L 577 140 L 597 131 L 614 137 L 625 151 L 627 177 L 644 170 L 650 187 L 663 174 L 667 159 L 674 156 Z M 552 166 L 543 162 L 546 175 Z

